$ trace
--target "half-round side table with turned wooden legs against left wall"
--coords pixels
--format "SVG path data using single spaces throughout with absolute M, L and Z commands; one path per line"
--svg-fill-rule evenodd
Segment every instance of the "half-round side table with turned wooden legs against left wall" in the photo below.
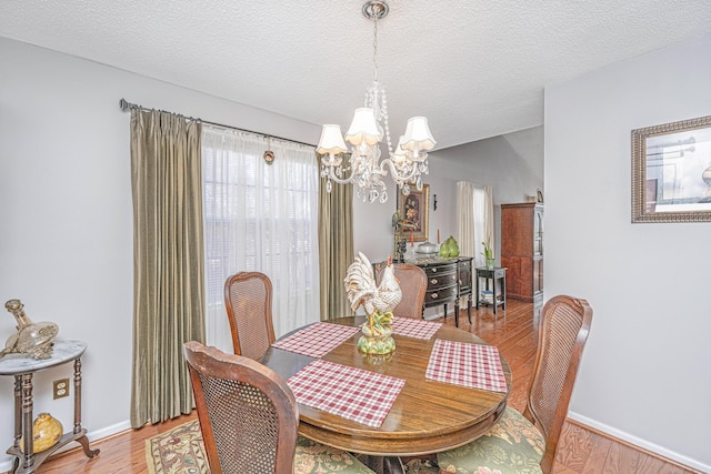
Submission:
M 14 474 L 33 473 L 47 457 L 72 441 L 81 444 L 88 457 L 99 454 L 99 450 L 89 447 L 87 430 L 81 427 L 81 355 L 86 350 L 87 343 L 81 341 L 56 341 L 50 359 L 34 360 L 27 354 L 8 354 L 0 359 L 0 375 L 14 376 L 14 441 L 7 451 L 16 456 Z M 71 361 L 74 361 L 74 427 L 52 447 L 34 454 L 32 374 Z

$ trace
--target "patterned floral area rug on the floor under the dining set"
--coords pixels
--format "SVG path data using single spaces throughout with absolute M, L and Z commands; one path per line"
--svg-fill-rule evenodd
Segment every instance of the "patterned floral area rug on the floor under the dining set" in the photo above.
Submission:
M 440 472 L 434 456 L 403 461 L 408 474 Z M 146 464 L 149 474 L 209 474 L 200 422 L 194 420 L 147 440 Z

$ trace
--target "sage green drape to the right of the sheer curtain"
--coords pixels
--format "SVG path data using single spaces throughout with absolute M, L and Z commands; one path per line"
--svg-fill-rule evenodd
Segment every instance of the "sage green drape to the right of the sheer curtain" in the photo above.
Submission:
M 326 191 L 326 178 L 319 183 L 319 276 L 321 280 L 321 320 L 350 316 L 351 305 L 343 279 L 353 263 L 353 185 L 333 183 Z

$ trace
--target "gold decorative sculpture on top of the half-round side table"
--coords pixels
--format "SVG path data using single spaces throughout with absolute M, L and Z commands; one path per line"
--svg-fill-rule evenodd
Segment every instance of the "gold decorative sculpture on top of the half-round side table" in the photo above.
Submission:
M 24 313 L 24 304 L 20 300 L 8 300 L 4 307 L 18 322 L 18 332 L 8 337 L 0 357 L 6 354 L 29 354 L 32 359 L 49 359 L 59 326 L 47 321 L 33 323 Z

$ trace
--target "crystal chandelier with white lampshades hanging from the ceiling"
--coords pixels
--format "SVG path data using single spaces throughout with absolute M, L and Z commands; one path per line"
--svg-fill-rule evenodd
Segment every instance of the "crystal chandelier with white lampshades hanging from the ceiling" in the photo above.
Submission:
M 408 120 L 403 135 L 392 148 L 390 125 L 388 123 L 388 98 L 385 89 L 378 82 L 378 20 L 388 14 L 390 7 L 381 0 L 370 0 L 363 4 L 363 16 L 373 20 L 373 67 L 374 80 L 365 92 L 364 107 L 356 109 L 353 121 L 346 132 L 346 141 L 351 145 L 348 162 L 344 162 L 349 150 L 346 147 L 341 128 L 337 124 L 323 125 L 317 152 L 321 157 L 321 177 L 327 179 L 326 190 L 331 192 L 332 181 L 346 184 L 353 183 L 358 198 L 363 202 L 388 201 L 388 192 L 383 179 L 390 172 L 402 194 L 410 193 L 414 183 L 422 190 L 422 174 L 429 173 L 427 152 L 437 142 L 432 138 L 424 117 Z M 380 144 L 385 140 L 388 157 L 380 160 Z

